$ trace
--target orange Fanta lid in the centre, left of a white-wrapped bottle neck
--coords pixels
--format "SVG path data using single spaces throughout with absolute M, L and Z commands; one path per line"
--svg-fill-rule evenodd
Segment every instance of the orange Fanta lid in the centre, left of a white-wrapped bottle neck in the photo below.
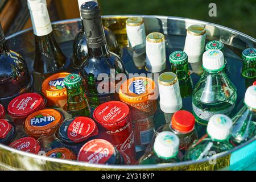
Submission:
M 156 100 L 156 85 L 151 78 L 134 77 L 123 82 L 119 89 L 119 98 L 126 103 Z

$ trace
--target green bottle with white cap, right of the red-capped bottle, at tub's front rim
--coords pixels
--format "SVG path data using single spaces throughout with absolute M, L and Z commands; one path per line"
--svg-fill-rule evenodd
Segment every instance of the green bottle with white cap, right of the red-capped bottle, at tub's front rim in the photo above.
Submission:
M 216 114 L 210 118 L 207 133 L 195 140 L 188 148 L 183 160 L 201 160 L 233 148 L 229 142 L 232 131 L 232 120 L 224 114 Z

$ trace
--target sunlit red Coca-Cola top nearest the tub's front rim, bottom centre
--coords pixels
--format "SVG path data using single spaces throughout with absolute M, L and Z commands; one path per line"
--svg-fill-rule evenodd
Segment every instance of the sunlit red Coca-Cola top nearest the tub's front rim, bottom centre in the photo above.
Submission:
M 117 151 L 104 139 L 94 139 L 85 143 L 79 151 L 77 160 L 93 164 L 115 164 Z

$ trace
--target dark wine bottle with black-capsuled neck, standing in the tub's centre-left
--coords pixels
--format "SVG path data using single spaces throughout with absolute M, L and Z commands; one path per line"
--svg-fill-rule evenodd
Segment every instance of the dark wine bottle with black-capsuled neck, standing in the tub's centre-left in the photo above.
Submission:
M 103 80 L 98 80 L 98 75 L 105 73 L 110 82 L 111 69 L 115 69 L 115 74 L 125 73 L 125 65 L 122 60 L 112 52 L 109 52 L 102 26 L 100 7 L 98 3 L 90 1 L 81 6 L 81 15 L 88 46 L 88 57 L 80 68 L 81 76 L 85 83 L 85 93 L 89 98 L 92 109 L 99 104 L 113 100 L 116 94 L 101 93 L 98 90 Z M 96 39 L 97 38 L 97 39 Z M 113 83 L 115 84 L 115 83 Z M 118 98 L 118 96 L 117 96 Z

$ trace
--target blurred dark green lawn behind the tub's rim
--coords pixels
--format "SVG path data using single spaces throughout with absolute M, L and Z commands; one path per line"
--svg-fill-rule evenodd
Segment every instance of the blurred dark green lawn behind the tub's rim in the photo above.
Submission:
M 217 17 L 208 15 L 209 3 Z M 180 16 L 217 23 L 256 38 L 256 0 L 100 0 L 103 15 L 144 14 Z

